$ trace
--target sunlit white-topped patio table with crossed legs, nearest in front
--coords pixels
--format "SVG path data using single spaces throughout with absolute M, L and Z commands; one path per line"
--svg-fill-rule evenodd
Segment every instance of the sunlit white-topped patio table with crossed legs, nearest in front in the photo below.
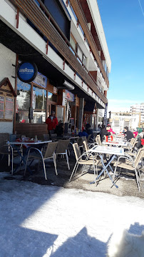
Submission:
M 123 156 L 124 155 L 124 149 L 113 147 L 113 146 L 93 146 L 93 148 L 91 148 L 88 151 L 91 152 L 91 153 L 98 153 L 98 156 L 100 156 L 101 163 L 102 163 L 102 166 L 103 166 L 101 172 L 99 173 L 97 178 L 95 178 L 95 181 L 93 181 L 91 183 L 96 183 L 98 178 L 100 178 L 101 175 L 104 173 L 104 171 L 106 171 L 106 173 L 108 174 L 108 176 L 109 176 L 110 180 L 112 181 L 113 185 L 116 188 L 118 188 L 118 186 L 115 185 L 115 183 L 113 181 L 113 178 L 111 178 L 110 173 L 108 172 L 108 166 L 110 167 L 111 171 L 113 171 L 113 169 L 110 166 L 110 163 L 114 160 L 114 158 L 116 158 L 116 156 Z M 108 159 L 106 165 L 103 162 L 103 153 L 110 154 L 110 158 Z

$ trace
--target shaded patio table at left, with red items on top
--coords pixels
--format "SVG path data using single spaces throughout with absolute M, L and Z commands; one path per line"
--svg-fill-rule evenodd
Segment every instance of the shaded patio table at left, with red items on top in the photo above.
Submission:
M 26 154 L 27 154 L 27 152 L 28 152 L 28 150 L 29 150 L 29 148 L 31 146 L 37 146 L 39 144 L 44 144 L 44 143 L 49 143 L 49 142 L 52 142 L 52 141 L 51 140 L 48 140 L 48 141 L 40 141 L 40 140 L 38 140 L 37 142 L 34 142 L 34 141 L 30 140 L 30 141 L 14 141 L 14 142 L 7 141 L 6 143 L 9 146 L 14 146 L 16 151 L 19 153 L 19 156 L 21 157 L 21 161 L 19 162 L 18 166 L 21 166 L 21 163 L 25 163 L 25 165 L 26 165 L 25 157 L 26 157 Z M 19 149 L 16 146 L 21 146 L 21 148 Z M 23 151 L 22 151 L 23 146 L 26 146 L 26 153 L 25 154 L 23 154 Z M 18 166 L 15 168 L 14 172 L 16 171 Z

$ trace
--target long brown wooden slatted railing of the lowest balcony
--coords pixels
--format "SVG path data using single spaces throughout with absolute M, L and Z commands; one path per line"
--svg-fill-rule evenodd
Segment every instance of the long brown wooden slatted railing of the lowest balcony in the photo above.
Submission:
M 79 57 L 76 54 L 76 51 L 74 51 L 68 39 L 66 39 L 66 36 L 63 34 L 58 24 L 56 24 L 56 21 L 53 20 L 51 14 L 48 12 L 48 9 L 46 9 L 46 6 L 44 6 L 41 0 L 38 0 L 38 2 L 45 13 L 43 13 L 34 0 L 11 0 L 11 2 L 15 4 L 17 9 L 19 9 L 44 36 L 46 36 L 48 41 L 50 41 L 63 56 L 63 59 L 68 61 L 68 64 L 73 67 L 74 71 L 81 76 L 83 81 L 85 81 L 93 92 L 95 92 L 96 95 L 106 104 L 106 96 L 101 94 L 96 81 L 86 69 L 86 66 L 83 65 L 83 69 L 83 66 L 81 66 L 77 60 Z M 71 49 L 73 49 L 75 56 L 71 52 L 71 49 L 69 48 L 70 46 Z

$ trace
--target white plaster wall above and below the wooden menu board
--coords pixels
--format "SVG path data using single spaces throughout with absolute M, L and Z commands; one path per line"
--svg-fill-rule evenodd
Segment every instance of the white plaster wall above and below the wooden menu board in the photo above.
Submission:
M 16 54 L 0 44 L 0 81 L 8 78 L 15 89 L 15 79 L 11 77 L 15 76 L 15 67 L 12 64 L 16 64 Z M 13 121 L 1 121 L 0 133 L 5 132 L 13 133 Z

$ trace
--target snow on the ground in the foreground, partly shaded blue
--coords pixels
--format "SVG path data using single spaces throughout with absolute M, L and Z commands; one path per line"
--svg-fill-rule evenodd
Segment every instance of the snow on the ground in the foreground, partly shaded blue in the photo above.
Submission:
M 104 257 L 115 230 L 144 230 L 143 199 L 6 180 L 0 257 Z

